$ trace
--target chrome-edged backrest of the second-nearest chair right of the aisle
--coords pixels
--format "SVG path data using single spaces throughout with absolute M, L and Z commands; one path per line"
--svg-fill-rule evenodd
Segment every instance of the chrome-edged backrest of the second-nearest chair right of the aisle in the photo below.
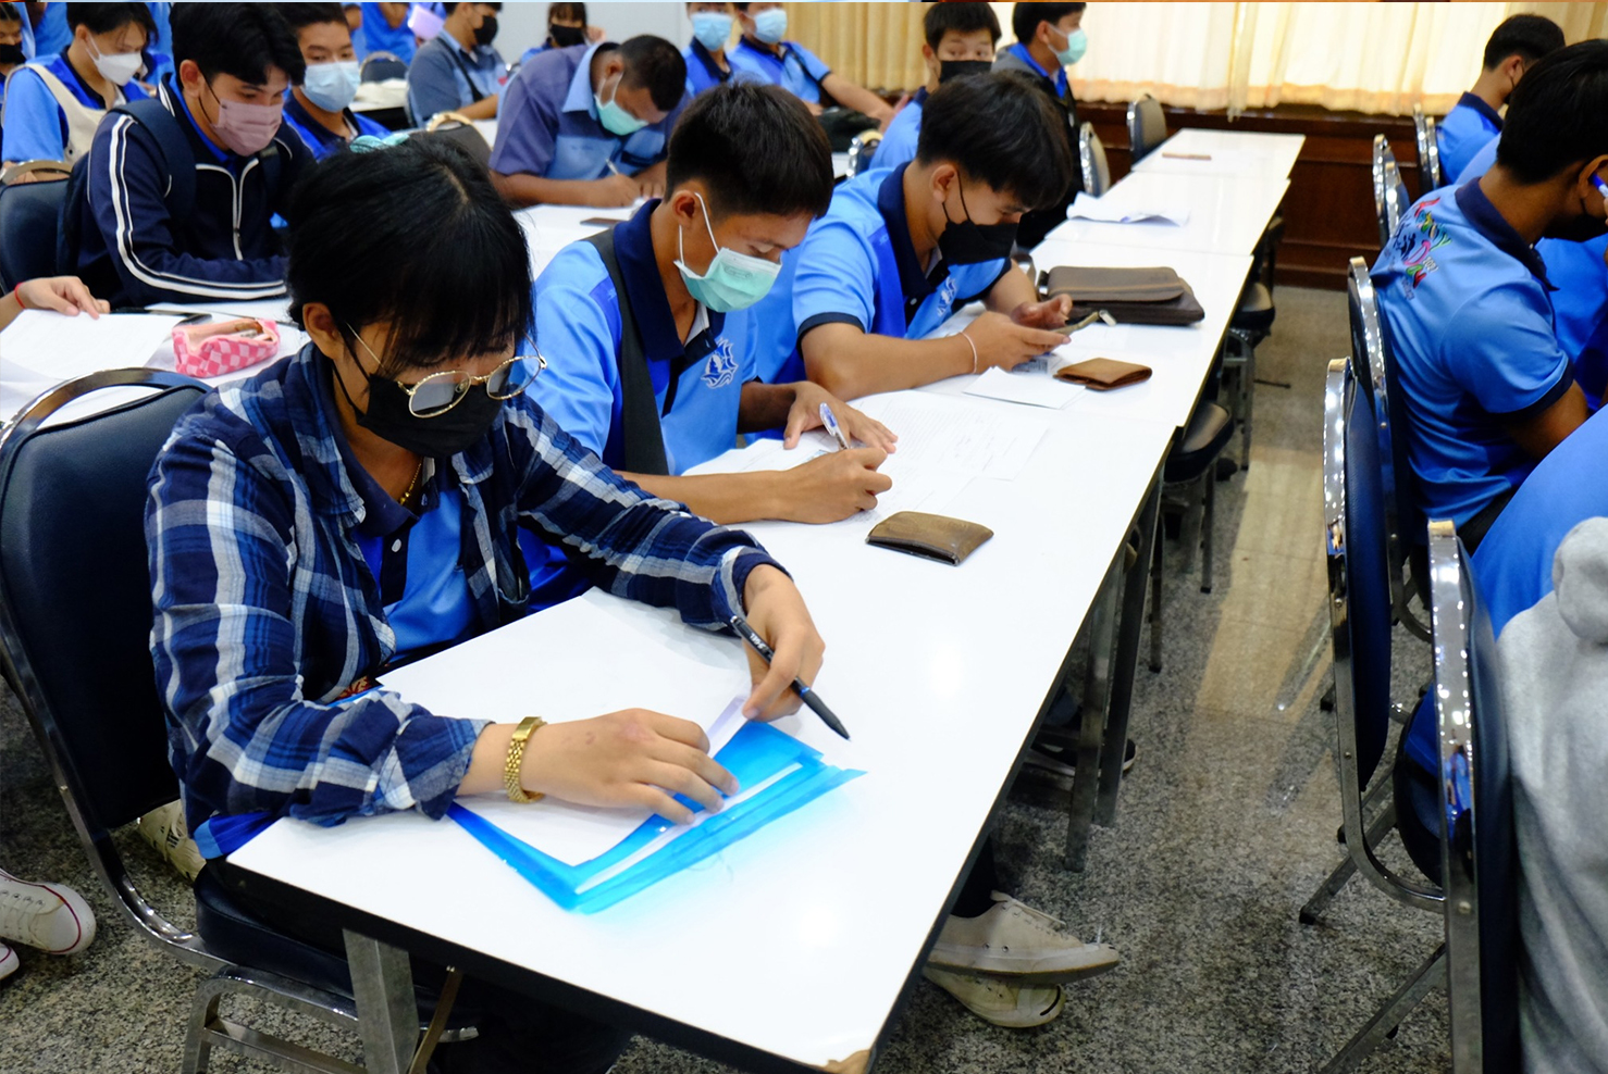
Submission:
M 1391 730 L 1391 585 L 1378 421 L 1354 363 L 1328 363 L 1323 396 L 1323 539 L 1335 654 L 1335 759 L 1346 852 L 1375 886 L 1438 908 L 1439 892 L 1386 868 L 1367 842 L 1362 793 Z

